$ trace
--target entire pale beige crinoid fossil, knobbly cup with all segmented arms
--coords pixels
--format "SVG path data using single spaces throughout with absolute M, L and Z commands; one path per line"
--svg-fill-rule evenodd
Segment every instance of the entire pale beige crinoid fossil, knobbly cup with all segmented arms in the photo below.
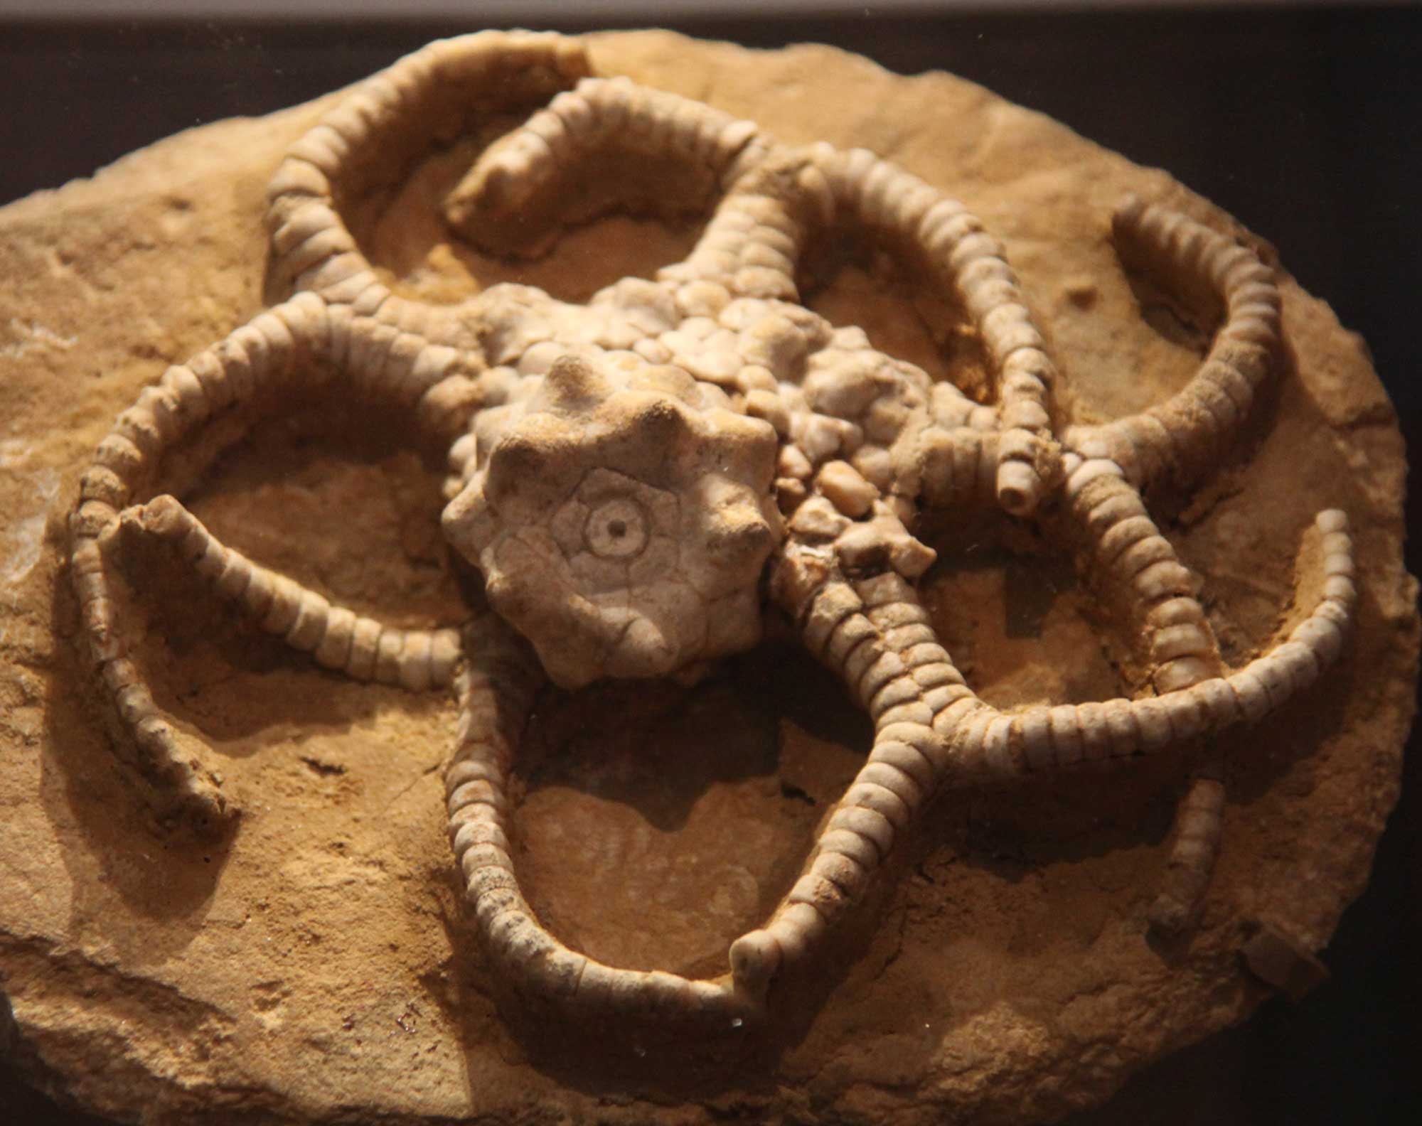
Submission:
M 1224 318 L 1173 398 L 1075 425 L 1054 401 L 1051 348 L 1001 243 L 963 205 L 867 151 L 791 149 L 587 70 L 557 36 L 437 43 L 356 87 L 297 142 L 269 206 L 274 273 L 296 294 L 171 368 L 119 417 L 71 519 L 73 576 L 119 744 L 166 812 L 210 826 L 235 810 L 129 657 L 111 557 L 135 533 L 169 542 L 219 596 L 327 667 L 408 688 L 456 682 L 451 843 L 488 954 L 518 994 L 724 1026 L 762 1009 L 781 968 L 815 955 L 936 795 L 1123 762 L 1256 722 L 1313 685 L 1351 621 L 1351 545 L 1341 512 L 1318 516 L 1313 608 L 1231 671 L 1196 576 L 1142 499 L 1155 482 L 1194 483 L 1273 377 L 1280 301 L 1247 247 L 1136 199 L 1121 206 L 1119 253 Z M 518 284 L 451 306 L 392 293 L 343 202 L 398 182 L 431 141 L 462 132 L 469 107 L 549 98 L 478 159 L 447 200 L 448 222 L 496 250 L 536 252 L 565 188 L 583 183 L 577 218 L 714 205 L 694 250 L 582 306 Z M 607 169 L 629 158 L 678 171 L 685 191 L 671 202 L 634 176 L 623 191 Z M 512 218 L 526 220 L 522 243 Z M 805 249 L 843 226 L 961 309 L 994 378 L 990 402 L 798 303 Z M 154 496 L 165 458 L 201 446 L 206 425 L 321 394 L 388 404 L 448 446 L 445 535 L 483 580 L 458 643 L 452 628 L 392 630 L 333 607 Z M 919 600 L 934 550 L 916 532 L 929 510 L 993 508 L 1085 543 L 1088 577 L 1149 670 L 1138 698 L 1003 712 L 974 694 Z M 695 675 L 757 643 L 766 590 L 867 709 L 867 761 L 784 901 L 731 945 L 728 974 L 693 981 L 569 950 L 523 899 L 509 846 L 509 779 L 545 677 Z M 1199 908 L 1224 800 L 1206 761 L 1179 808 L 1156 926 L 1187 926 Z

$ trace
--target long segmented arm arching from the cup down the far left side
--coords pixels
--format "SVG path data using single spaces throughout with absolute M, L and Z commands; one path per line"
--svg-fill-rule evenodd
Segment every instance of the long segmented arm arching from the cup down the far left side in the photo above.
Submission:
M 328 310 L 316 294 L 303 293 L 168 368 L 118 417 L 81 479 L 70 535 L 82 631 L 117 705 L 115 742 L 124 754 L 135 756 L 154 799 L 165 805 L 165 815 L 212 825 L 225 816 L 228 803 L 196 752 L 183 749 L 129 657 L 132 638 L 115 614 L 115 580 L 105 557 L 107 549 L 115 546 L 109 539 L 119 529 L 118 513 L 141 502 L 175 446 L 208 424 L 223 418 L 245 421 L 260 409 L 289 402 L 293 394 L 328 388 L 333 360 L 341 365 L 347 391 L 402 408 L 434 436 L 447 439 L 468 422 L 472 382 L 462 374 L 452 348 L 427 345 L 368 318 L 356 323 L 348 310 Z M 155 509 L 155 518 L 162 509 L 162 505 Z M 253 581 L 257 584 L 250 593 L 256 597 L 266 589 L 266 580 L 253 577 Z M 293 593 L 293 587 L 284 586 L 289 580 L 272 581 L 283 594 Z M 304 608 L 316 606 L 307 603 Z M 330 613 L 327 624 L 334 630 L 344 618 L 338 610 Z M 303 620 L 299 637 L 304 638 L 310 627 L 310 620 Z M 327 653 L 336 644 L 333 638 Z M 418 648 L 415 640 L 411 645 Z M 444 648 L 441 640 L 441 654 Z

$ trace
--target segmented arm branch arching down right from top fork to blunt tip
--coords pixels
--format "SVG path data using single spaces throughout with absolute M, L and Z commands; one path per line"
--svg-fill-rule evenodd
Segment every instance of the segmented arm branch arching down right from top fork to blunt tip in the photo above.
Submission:
M 838 212 L 921 257 L 971 317 L 998 380 L 997 500 L 1014 515 L 1031 513 L 1057 454 L 1057 372 L 1003 245 L 960 202 L 867 149 L 818 144 L 812 152 Z

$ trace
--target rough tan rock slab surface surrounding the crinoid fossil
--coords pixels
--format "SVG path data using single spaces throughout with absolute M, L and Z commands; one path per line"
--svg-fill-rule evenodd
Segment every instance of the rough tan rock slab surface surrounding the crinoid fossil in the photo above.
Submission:
M 1123 191 L 1229 220 L 1159 172 L 947 75 L 825 48 L 752 54 L 657 33 L 594 40 L 607 74 L 702 98 L 788 141 L 865 145 L 1000 235 L 1081 419 L 1177 388 L 1196 327 L 1116 264 Z M 164 141 L 0 212 L 0 990 L 4 1045 L 101 1113 L 196 1122 L 1037 1122 L 1247 1014 L 1263 924 L 1321 950 L 1396 796 L 1418 621 L 1401 564 L 1402 442 L 1362 343 L 1284 280 L 1294 370 L 1253 445 L 1158 510 L 1226 654 L 1267 643 L 1294 536 L 1349 512 L 1359 628 L 1340 665 L 1226 736 L 1230 805 L 1202 928 L 1145 938 L 1177 758 L 950 796 L 818 987 L 744 1042 L 567 1042 L 491 999 L 444 839 L 454 705 L 337 680 L 242 627 L 154 557 L 132 613 L 159 704 L 226 756 L 247 816 L 203 847 L 156 835 L 111 755 L 71 637 L 64 516 L 112 417 L 264 299 L 260 210 L 317 107 Z M 427 297 L 519 277 L 582 299 L 681 257 L 694 232 L 610 219 L 529 266 L 449 245 L 431 205 L 469 149 L 380 200 L 368 252 Z M 1284 257 L 1287 269 L 1287 249 Z M 971 384 L 956 318 L 872 256 L 813 296 L 886 351 Z M 1140 316 L 1145 307 L 1145 317 Z M 267 566 L 384 617 L 459 616 L 437 466 L 383 419 L 276 421 L 186 498 Z M 1166 519 L 1172 516 L 1172 519 Z M 1112 695 L 1109 643 L 1071 560 L 946 543 L 939 628 L 998 705 Z M 519 863 L 552 930 L 624 965 L 714 972 L 793 879 L 867 722 L 793 648 L 695 688 L 610 685 L 539 709 Z M 10 1022 L 6 1022 L 10 1024 Z

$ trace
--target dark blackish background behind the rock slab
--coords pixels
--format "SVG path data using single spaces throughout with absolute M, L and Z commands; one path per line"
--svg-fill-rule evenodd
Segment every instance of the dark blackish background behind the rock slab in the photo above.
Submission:
M 832 43 L 906 74 L 953 71 L 1138 163 L 1169 169 L 1280 247 L 1300 283 L 1362 333 L 1416 448 L 1422 10 L 1084 14 L 1061 4 L 912 18 L 678 13 L 665 26 L 752 47 Z M 0 203 L 90 175 L 191 125 L 306 101 L 431 38 L 476 27 L 472 17 L 0 21 Z M 1418 508 L 1409 499 L 1412 526 Z M 1411 543 L 1408 569 L 1419 570 Z M 1071 1125 L 1422 1122 L 1419 806 L 1422 756 L 1413 748 L 1372 883 L 1324 953 L 1331 981 L 1297 1007 L 1270 1001 L 1250 1022 L 1142 1072 Z M 0 1063 L 0 1126 L 104 1123 L 55 1108 Z

